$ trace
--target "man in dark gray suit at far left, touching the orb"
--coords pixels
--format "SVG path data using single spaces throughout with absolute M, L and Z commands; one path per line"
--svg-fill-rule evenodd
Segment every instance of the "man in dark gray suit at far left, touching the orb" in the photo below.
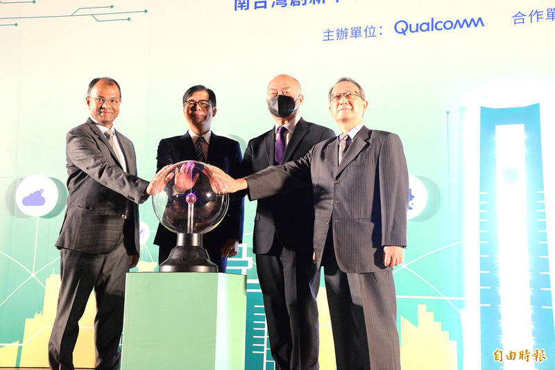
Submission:
M 73 370 L 78 321 L 94 288 L 97 370 L 119 369 L 125 276 L 139 261 L 137 204 L 163 188 L 163 168 L 149 183 L 137 177 L 133 143 L 113 122 L 121 90 L 95 78 L 86 97 L 90 117 L 66 136 L 67 210 L 56 247 L 62 284 L 49 341 L 50 369 Z

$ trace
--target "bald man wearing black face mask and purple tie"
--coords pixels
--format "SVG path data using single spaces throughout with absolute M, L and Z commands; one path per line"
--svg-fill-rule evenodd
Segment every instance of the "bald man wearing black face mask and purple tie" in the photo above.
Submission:
M 303 99 L 291 76 L 278 75 L 268 83 L 266 102 L 275 124 L 249 141 L 243 176 L 299 159 L 314 144 L 335 136 L 300 117 Z M 313 227 L 310 188 L 258 200 L 253 250 L 276 370 L 318 369 L 320 275 L 313 262 Z

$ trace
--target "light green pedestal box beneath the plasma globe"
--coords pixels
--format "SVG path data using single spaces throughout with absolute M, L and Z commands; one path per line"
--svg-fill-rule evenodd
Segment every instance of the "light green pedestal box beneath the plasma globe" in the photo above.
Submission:
M 121 370 L 244 370 L 246 276 L 127 274 Z

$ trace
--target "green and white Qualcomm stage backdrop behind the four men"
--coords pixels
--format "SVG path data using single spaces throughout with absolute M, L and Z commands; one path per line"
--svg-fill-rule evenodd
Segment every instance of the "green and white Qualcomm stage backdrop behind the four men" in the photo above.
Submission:
M 273 125 L 268 80 L 289 73 L 302 85 L 302 116 L 334 130 L 327 90 L 342 76 L 359 81 L 366 125 L 400 135 L 425 188 L 411 184 L 411 207 L 424 209 L 394 271 L 403 369 L 555 369 L 554 35 L 553 0 L 0 1 L 0 367 L 46 366 L 65 133 L 87 118 L 89 80 L 120 83 L 116 127 L 148 179 L 158 141 L 185 132 L 185 89 L 214 89 L 212 128 L 244 149 Z M 42 177 L 22 185 L 32 175 L 58 190 L 46 215 L 28 213 L 56 190 Z M 24 213 L 17 202 L 32 193 L 46 203 Z M 248 276 L 245 369 L 272 370 L 254 211 L 247 202 L 230 272 Z M 151 203 L 140 212 L 155 230 Z M 153 231 L 142 240 L 139 269 L 155 270 Z M 318 300 L 321 367 L 334 369 L 323 287 Z M 78 366 L 94 363 L 93 317 L 94 305 Z

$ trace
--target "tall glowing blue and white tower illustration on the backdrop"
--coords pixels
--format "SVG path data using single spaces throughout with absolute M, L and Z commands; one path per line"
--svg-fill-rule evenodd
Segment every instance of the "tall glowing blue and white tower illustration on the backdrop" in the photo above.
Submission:
M 480 123 L 482 369 L 548 369 L 506 360 L 511 351 L 555 353 L 540 105 L 481 107 Z

